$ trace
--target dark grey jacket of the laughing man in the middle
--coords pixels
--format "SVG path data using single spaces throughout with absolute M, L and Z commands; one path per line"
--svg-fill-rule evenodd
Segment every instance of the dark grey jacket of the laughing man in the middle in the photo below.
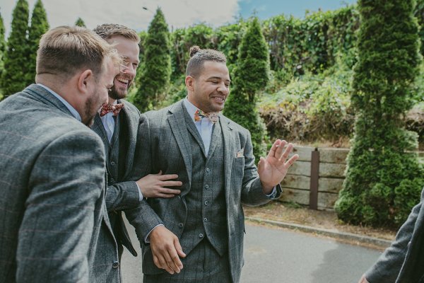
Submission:
M 122 219 L 122 211 L 125 212 L 126 209 L 134 209 L 139 206 L 140 202 L 139 188 L 136 183 L 134 183 L 134 181 L 138 179 L 133 178 L 134 181 L 130 181 L 129 173 L 133 166 L 141 114 L 131 103 L 125 100 L 120 100 L 119 103 L 124 103 L 124 108 L 119 112 L 119 119 L 122 120 L 120 124 L 124 126 L 120 127 L 120 137 L 118 137 L 119 148 L 116 148 L 115 144 L 114 146 L 110 145 L 105 127 L 99 115 L 96 115 L 91 129 L 100 136 L 106 150 L 106 168 L 110 176 L 106 192 L 106 206 L 111 223 L 114 225 L 114 227 L 112 227 L 114 236 L 119 245 L 125 246 L 130 253 L 136 256 L 136 250 L 132 246 L 128 231 L 126 231 L 124 225 L 124 220 Z M 112 165 L 109 159 L 111 151 L 119 151 L 119 171 L 114 171 L 111 168 Z M 135 209 L 132 213 L 138 214 L 139 212 Z M 139 225 L 136 221 L 136 219 L 138 219 L 137 216 L 129 218 L 135 219 L 135 221 L 131 221 L 133 226 L 137 227 Z

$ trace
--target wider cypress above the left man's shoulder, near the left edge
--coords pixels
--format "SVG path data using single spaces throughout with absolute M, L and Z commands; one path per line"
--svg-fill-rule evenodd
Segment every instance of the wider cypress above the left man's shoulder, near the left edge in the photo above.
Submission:
M 1 89 L 4 97 L 22 91 L 26 86 L 28 18 L 28 2 L 26 0 L 18 0 L 13 9 L 12 29 L 8 37 L 4 56 L 4 71 L 1 74 Z

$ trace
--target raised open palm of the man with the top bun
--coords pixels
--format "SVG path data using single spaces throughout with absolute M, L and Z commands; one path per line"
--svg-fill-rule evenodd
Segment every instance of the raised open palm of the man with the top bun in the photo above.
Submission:
M 258 173 L 265 194 L 269 194 L 273 187 L 281 183 L 288 168 L 299 158 L 298 154 L 295 154 L 286 161 L 292 150 L 293 144 L 277 139 L 266 158 L 260 158 Z

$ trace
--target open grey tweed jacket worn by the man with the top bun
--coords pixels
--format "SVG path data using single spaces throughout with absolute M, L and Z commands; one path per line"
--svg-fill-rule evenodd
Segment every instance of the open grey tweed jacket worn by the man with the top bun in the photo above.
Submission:
M 146 113 L 141 118 L 139 139 L 134 159 L 134 170 L 143 175 L 163 171 L 164 174 L 187 172 L 188 182 L 192 178 L 192 151 L 187 125 L 184 119 L 182 101 L 162 110 Z M 217 126 L 217 125 L 216 125 Z M 228 226 L 228 256 L 234 282 L 239 282 L 243 265 L 243 237 L 245 216 L 242 203 L 259 205 L 269 202 L 262 192 L 261 181 L 254 166 L 252 141 L 247 129 L 220 115 L 219 126 L 224 140 L 224 175 Z M 237 152 L 244 149 L 244 158 L 237 158 Z M 213 170 L 213 168 L 212 168 Z M 190 188 L 190 185 L 184 186 Z M 164 224 L 175 235 L 181 237 L 187 218 L 187 206 L 184 196 L 189 191 L 182 190 L 181 195 L 170 199 L 143 200 L 143 237 L 156 225 Z M 278 186 L 279 197 L 281 187 Z M 183 224 L 183 225 L 179 225 Z M 153 263 L 151 248 L 143 245 L 143 272 L 157 274 L 162 272 Z M 184 247 L 183 247 L 184 250 Z M 192 262 L 198 264 L 198 262 Z

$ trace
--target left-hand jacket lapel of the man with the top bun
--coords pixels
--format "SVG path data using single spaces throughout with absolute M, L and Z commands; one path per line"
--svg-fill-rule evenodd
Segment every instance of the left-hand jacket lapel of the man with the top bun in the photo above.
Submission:
M 189 187 L 192 184 L 192 148 L 190 146 L 189 139 L 187 139 L 187 135 L 189 135 L 189 131 L 187 130 L 186 123 L 182 123 L 185 120 L 184 118 L 184 106 L 181 100 L 178 103 L 175 103 L 172 108 L 170 108 L 168 115 L 168 122 L 170 124 L 170 128 L 172 134 L 174 134 L 175 140 L 177 141 L 177 145 L 179 151 L 181 152 L 182 158 L 184 160 L 184 165 L 186 167 L 187 175 L 189 177 Z M 188 191 L 187 191 L 188 192 Z

